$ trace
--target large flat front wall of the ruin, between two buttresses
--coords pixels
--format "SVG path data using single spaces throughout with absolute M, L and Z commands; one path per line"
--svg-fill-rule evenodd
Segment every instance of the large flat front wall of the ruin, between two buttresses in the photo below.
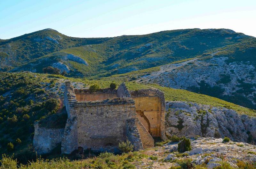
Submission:
M 135 118 L 134 102 L 75 106 L 78 146 L 94 151 L 116 151 L 126 140 L 127 120 Z

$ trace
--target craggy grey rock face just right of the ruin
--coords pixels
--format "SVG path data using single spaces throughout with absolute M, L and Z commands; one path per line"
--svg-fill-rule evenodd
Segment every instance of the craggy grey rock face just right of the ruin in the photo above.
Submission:
M 232 109 L 183 101 L 166 102 L 167 136 L 229 137 L 238 142 L 255 142 L 256 118 Z

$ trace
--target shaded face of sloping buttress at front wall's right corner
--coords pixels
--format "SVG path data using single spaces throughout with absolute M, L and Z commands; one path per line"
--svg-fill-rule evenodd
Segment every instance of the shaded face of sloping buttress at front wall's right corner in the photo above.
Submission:
M 138 119 L 136 119 L 139 121 Z M 128 140 L 134 145 L 133 150 L 138 151 L 143 149 L 143 145 L 141 142 L 140 132 L 137 128 L 137 125 L 135 123 L 135 119 L 130 119 L 127 121 L 126 126 L 126 136 Z M 153 142 L 154 144 L 154 142 Z

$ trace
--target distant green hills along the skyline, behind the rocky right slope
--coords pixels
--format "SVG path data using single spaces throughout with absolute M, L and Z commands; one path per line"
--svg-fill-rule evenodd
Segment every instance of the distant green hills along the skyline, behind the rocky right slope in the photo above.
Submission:
M 113 38 L 72 38 L 46 29 L 2 40 L 1 68 L 42 72 L 42 68 L 53 66 L 67 71 L 69 77 L 107 77 L 193 58 L 250 39 L 253 37 L 229 29 L 184 29 Z

